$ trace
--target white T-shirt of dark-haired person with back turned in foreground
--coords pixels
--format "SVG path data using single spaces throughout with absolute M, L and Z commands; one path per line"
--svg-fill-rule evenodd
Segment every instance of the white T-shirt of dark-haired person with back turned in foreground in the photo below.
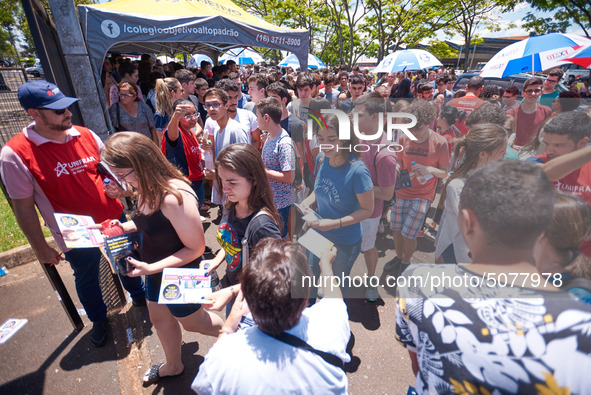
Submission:
M 304 310 L 288 333 L 349 362 L 347 307 L 324 298 Z M 276 340 L 258 327 L 223 335 L 209 350 L 191 388 L 205 394 L 346 394 L 346 373 L 320 356 Z

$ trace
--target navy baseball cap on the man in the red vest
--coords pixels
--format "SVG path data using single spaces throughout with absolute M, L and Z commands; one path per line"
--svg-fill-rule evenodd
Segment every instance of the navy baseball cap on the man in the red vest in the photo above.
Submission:
M 18 88 L 18 101 L 25 110 L 41 107 L 63 110 L 78 100 L 64 95 L 56 85 L 44 80 L 29 81 Z

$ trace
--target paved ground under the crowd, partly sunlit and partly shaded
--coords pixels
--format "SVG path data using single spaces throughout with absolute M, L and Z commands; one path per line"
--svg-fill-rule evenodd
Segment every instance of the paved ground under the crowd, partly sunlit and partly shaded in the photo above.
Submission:
M 206 243 L 216 250 L 217 226 L 209 222 L 205 226 Z M 394 256 L 391 236 L 380 238 L 378 248 L 377 273 L 381 274 L 383 265 Z M 432 260 L 431 243 L 419 241 L 419 250 L 417 262 Z M 69 265 L 60 264 L 58 270 L 77 308 L 81 308 Z M 364 272 L 360 256 L 352 275 Z M 394 340 L 394 299 L 383 289 L 380 293 L 383 301 L 359 299 L 349 304 L 353 358 L 347 371 L 352 394 L 406 394 L 408 385 L 414 382 L 408 354 Z M 26 318 L 29 322 L 0 345 L 0 394 L 192 393 L 190 384 L 215 339 L 184 332 L 184 374 L 144 389 L 140 384 L 142 373 L 151 364 L 164 361 L 147 309 L 131 303 L 114 306 L 110 294 L 107 299 L 111 332 L 107 345 L 96 349 L 90 344 L 92 325 L 88 318 L 82 316 L 86 324 L 82 332 L 73 330 L 38 263 L 9 269 L 8 275 L 0 277 L 0 324 L 8 318 Z M 128 329 L 133 336 L 131 344 Z

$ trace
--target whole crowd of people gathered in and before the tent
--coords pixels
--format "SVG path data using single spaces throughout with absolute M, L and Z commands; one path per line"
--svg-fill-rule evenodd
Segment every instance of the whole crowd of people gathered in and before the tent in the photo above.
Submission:
M 389 228 L 390 276 L 527 275 L 510 290 L 399 287 L 392 337 L 408 349 L 418 393 L 591 388 L 591 114 L 581 93 L 556 90 L 561 70 L 519 91 L 478 76 L 457 87 L 445 68 L 377 79 L 357 66 L 200 66 L 106 59 L 114 133 L 104 143 L 72 125 L 77 99 L 45 81 L 24 84 L 19 100 L 34 122 L 0 156 L 40 261 L 61 256 L 34 205 L 63 251 L 53 212 L 142 232 L 141 259 L 121 278 L 134 304 L 147 304 L 166 356 L 145 386 L 183 372 L 182 325 L 219 336 L 197 393 L 346 393 L 350 286 L 303 279 L 346 277 L 359 255 L 376 276 L 376 241 Z M 104 190 L 99 160 L 128 191 Z M 68 198 L 81 190 L 87 198 Z M 117 198 L 130 194 L 125 217 Z M 208 247 L 202 222 L 214 207 L 219 246 Z M 322 253 L 297 243 L 309 230 L 330 242 Z M 413 258 L 425 236 L 435 244 L 427 267 Z M 80 250 L 65 258 L 101 346 L 100 254 Z M 157 303 L 162 270 L 180 266 L 225 269 L 210 304 Z M 364 287 L 368 303 L 380 298 L 379 287 Z

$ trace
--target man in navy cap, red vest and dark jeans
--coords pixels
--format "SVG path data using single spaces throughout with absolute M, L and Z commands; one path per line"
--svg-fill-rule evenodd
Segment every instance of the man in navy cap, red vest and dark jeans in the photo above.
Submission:
M 89 215 L 95 223 L 122 217 L 123 206 L 106 195 L 97 172 L 103 143 L 90 130 L 72 125 L 69 107 L 78 99 L 66 97 L 54 84 L 27 82 L 19 87 L 18 99 L 34 122 L 2 148 L 0 174 L 16 220 L 39 262 L 57 264 L 61 254 L 45 241 L 35 206 L 65 252 L 74 270 L 76 292 L 93 322 L 90 340 L 100 347 L 107 337 L 107 307 L 99 285 L 101 253 L 98 247 L 66 248 L 53 214 Z M 121 276 L 121 282 L 134 305 L 145 305 L 140 277 Z

